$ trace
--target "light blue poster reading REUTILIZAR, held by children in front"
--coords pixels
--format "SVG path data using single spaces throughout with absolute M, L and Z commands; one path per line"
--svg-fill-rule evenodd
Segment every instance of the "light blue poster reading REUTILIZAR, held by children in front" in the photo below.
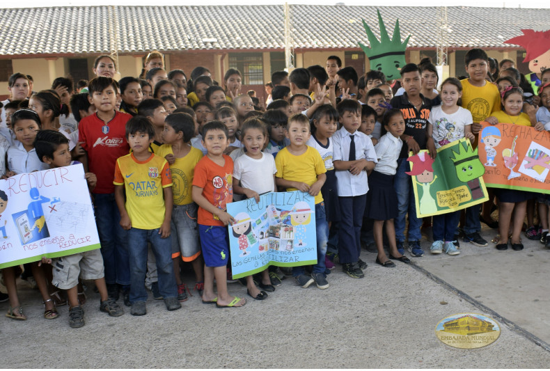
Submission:
M 234 278 L 269 265 L 297 267 L 317 262 L 315 198 L 301 191 L 270 192 L 260 202 L 249 198 L 228 203 L 235 219 L 229 228 Z

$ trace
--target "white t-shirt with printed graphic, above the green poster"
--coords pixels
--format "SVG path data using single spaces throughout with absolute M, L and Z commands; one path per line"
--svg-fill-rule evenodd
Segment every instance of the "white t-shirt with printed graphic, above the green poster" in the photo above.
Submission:
M 432 137 L 435 148 L 464 138 L 464 127 L 473 123 L 472 114 L 467 109 L 458 107 L 458 111 L 448 115 L 441 106 L 434 106 L 428 118 L 433 125 Z

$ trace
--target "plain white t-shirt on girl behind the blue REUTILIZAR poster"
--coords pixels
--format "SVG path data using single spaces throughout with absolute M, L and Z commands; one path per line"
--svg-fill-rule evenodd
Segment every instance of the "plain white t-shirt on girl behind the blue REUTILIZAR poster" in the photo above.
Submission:
M 237 157 L 233 166 L 233 177 L 241 181 L 241 187 L 252 189 L 258 194 L 275 191 L 273 175 L 277 172 L 272 155 L 262 152 L 261 159 L 248 155 Z

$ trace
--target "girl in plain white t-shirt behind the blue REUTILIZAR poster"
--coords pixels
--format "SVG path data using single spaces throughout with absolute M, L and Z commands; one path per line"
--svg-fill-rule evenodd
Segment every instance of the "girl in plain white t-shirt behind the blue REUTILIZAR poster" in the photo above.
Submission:
M 243 194 L 246 198 L 255 198 L 257 203 L 260 202 L 260 194 L 276 191 L 275 160 L 273 156 L 262 152 L 266 137 L 267 127 L 262 120 L 246 120 L 242 125 L 241 135 L 246 153 L 238 157 L 233 166 L 233 192 Z M 246 277 L 246 292 L 256 300 L 266 299 L 266 291 L 275 291 L 269 279 L 269 269 L 262 271 L 261 275 L 261 291 L 254 284 L 252 276 Z

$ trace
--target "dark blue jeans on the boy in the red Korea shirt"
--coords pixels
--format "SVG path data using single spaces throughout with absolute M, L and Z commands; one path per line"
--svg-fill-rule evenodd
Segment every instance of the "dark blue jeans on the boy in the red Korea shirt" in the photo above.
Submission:
M 115 194 L 94 194 L 95 223 L 100 235 L 105 283 L 130 284 L 127 231 L 120 226 Z

